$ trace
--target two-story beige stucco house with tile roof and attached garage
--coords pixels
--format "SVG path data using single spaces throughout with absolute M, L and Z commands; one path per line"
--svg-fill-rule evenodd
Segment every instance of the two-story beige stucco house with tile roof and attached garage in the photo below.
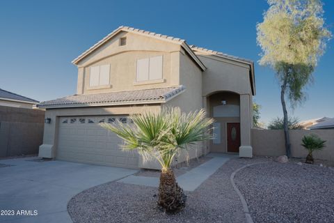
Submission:
M 180 107 L 205 108 L 216 120 L 216 138 L 199 144 L 191 157 L 239 153 L 252 157 L 253 61 L 187 45 L 185 40 L 120 26 L 72 61 L 78 68 L 77 94 L 41 102 L 45 124 L 40 157 L 116 167 L 151 168 L 137 153 L 98 123 L 129 114 Z

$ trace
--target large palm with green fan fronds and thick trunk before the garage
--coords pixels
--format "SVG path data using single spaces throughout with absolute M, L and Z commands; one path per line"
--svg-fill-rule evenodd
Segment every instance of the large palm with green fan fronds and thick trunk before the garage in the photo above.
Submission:
M 212 118 L 205 111 L 182 113 L 179 107 L 163 108 L 154 114 L 146 112 L 131 116 L 133 124 L 121 122 L 101 126 L 118 134 L 125 141 L 124 150 L 137 150 L 141 155 L 153 156 L 161 165 L 158 205 L 167 213 L 175 213 L 186 205 L 186 195 L 177 185 L 173 169 L 174 157 L 187 151 L 189 145 L 212 139 Z

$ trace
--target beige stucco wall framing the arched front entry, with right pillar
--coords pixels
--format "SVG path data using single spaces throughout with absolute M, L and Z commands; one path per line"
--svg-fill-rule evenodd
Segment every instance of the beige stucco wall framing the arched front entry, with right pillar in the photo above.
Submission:
M 221 91 L 230 91 L 239 94 L 240 101 L 240 137 L 241 146 L 239 155 L 251 157 L 250 128 L 253 122 L 252 91 L 250 84 L 250 66 L 237 61 L 223 59 L 206 53 L 196 52 L 207 70 L 202 75 L 202 95 L 208 97 Z M 207 103 L 207 107 L 210 107 Z M 226 122 L 226 121 L 224 121 Z M 223 125 L 222 131 L 225 130 Z M 210 150 L 216 150 L 211 146 Z M 226 150 L 221 148 L 221 150 Z

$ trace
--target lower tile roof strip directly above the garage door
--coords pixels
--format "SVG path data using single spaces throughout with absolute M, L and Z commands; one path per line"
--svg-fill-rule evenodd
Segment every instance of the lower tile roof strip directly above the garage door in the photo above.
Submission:
M 38 107 L 86 107 L 107 105 L 134 105 L 166 102 L 185 90 L 183 85 L 136 91 L 95 93 L 90 95 L 70 95 L 65 98 L 40 102 Z

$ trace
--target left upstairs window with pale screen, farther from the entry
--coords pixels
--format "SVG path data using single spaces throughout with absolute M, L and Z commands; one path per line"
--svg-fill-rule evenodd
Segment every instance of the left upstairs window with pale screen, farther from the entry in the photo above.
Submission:
M 110 79 L 110 64 L 90 67 L 89 86 L 108 85 Z

